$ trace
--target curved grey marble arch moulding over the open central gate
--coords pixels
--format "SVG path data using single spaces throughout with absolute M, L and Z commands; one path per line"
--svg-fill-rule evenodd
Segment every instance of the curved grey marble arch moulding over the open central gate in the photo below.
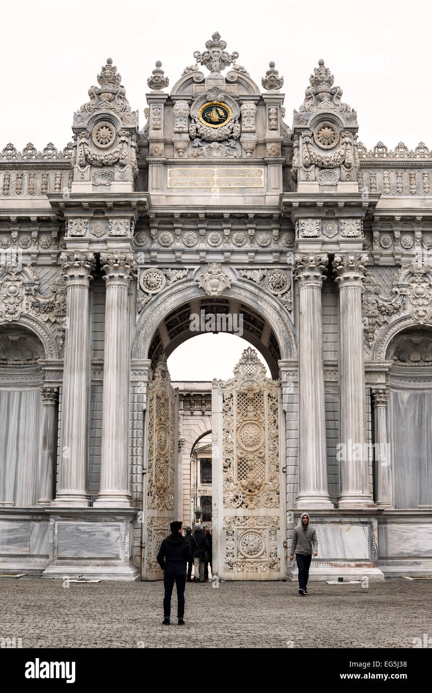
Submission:
M 132 359 L 149 358 L 150 344 L 152 344 L 153 337 L 159 326 L 163 324 L 165 317 L 168 317 L 181 306 L 189 304 L 190 301 L 199 301 L 204 298 L 206 298 L 206 294 L 197 286 L 195 281 L 184 281 L 168 287 L 155 301 L 149 301 L 136 326 Z M 296 360 L 298 358 L 294 333 L 287 311 L 264 289 L 259 286 L 246 288 L 240 283 L 232 281 L 231 288 L 225 289 L 217 298 L 232 299 L 249 306 L 265 323 L 269 324 L 278 342 L 280 359 Z M 259 348 L 257 344 L 253 344 L 253 346 Z

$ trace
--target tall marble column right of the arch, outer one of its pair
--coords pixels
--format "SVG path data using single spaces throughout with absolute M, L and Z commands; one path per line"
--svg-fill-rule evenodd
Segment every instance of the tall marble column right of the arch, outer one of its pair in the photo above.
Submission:
M 339 508 L 375 507 L 368 483 L 361 290 L 368 257 L 336 255 L 339 286 Z

